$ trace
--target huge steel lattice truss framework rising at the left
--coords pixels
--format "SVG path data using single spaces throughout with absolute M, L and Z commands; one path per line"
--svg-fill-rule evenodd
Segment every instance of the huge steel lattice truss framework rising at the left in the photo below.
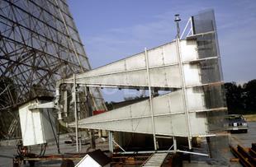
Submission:
M 0 114 L 15 117 L 18 104 L 52 95 L 55 81 L 90 68 L 65 0 L 0 1 Z

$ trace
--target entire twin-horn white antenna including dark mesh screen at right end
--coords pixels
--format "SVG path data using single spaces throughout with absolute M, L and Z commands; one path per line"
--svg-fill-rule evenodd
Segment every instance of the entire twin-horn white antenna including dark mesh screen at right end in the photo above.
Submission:
M 214 136 L 222 128 L 226 107 L 215 19 L 213 12 L 208 14 L 192 16 L 192 35 L 186 39 L 177 35 L 171 43 L 58 81 L 57 103 L 59 87 L 67 83 L 149 90 L 149 100 L 69 123 L 69 127 L 153 134 L 155 150 L 156 135 L 173 140 L 187 137 L 190 149 L 192 137 Z M 151 90 L 171 92 L 153 97 Z

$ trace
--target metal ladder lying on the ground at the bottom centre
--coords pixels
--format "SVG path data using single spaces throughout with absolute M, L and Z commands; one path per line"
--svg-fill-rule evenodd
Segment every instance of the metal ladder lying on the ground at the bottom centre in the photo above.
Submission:
M 163 164 L 168 153 L 154 153 L 149 156 L 149 159 L 145 161 L 145 164 L 142 166 L 150 166 L 150 167 L 159 167 Z

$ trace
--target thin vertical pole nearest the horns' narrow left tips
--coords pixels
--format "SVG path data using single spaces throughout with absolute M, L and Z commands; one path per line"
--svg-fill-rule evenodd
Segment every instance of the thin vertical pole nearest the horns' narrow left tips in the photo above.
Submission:
M 76 76 L 73 74 L 73 103 L 74 103 L 74 120 L 75 120 L 75 139 L 76 139 L 76 146 L 77 146 L 77 152 L 78 150 L 78 111 L 77 111 L 77 95 L 76 95 Z

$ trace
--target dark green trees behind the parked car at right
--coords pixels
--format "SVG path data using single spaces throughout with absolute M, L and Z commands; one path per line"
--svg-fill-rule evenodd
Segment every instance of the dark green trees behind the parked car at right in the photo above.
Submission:
M 229 114 L 256 114 L 256 79 L 225 83 L 225 96 Z

